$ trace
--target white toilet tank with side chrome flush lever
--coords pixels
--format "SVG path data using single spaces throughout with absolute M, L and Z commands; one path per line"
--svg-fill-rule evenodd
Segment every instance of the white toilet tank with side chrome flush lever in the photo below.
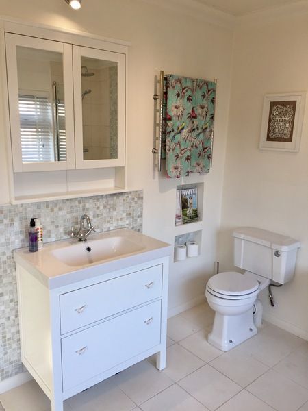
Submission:
M 294 276 L 300 242 L 265 229 L 240 227 L 233 232 L 234 265 L 279 284 Z

